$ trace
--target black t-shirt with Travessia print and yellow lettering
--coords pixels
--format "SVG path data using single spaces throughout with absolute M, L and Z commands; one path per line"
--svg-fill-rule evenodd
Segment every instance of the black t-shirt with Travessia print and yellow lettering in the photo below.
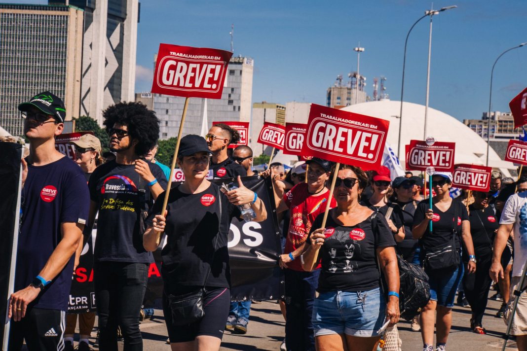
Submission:
M 147 164 L 159 185 L 167 188 L 167 178 L 161 168 L 151 162 Z M 152 255 L 144 249 L 139 233 L 139 190 L 145 190 L 146 210 L 152 206 L 153 199 L 148 182 L 135 172 L 135 165 L 121 165 L 115 160 L 105 163 L 95 169 L 88 187 L 99 211 L 93 250 L 95 261 L 150 263 Z

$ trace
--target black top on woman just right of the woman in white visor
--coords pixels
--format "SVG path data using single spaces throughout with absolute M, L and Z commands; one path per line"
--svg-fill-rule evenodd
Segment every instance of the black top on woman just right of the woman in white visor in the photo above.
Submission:
M 470 205 L 469 210 L 470 234 L 472 234 L 476 259 L 488 258 L 492 255 L 492 242 L 495 230 L 500 226 L 499 220 L 491 206 L 475 209 L 473 205 Z M 468 259 L 465 251 L 463 251 L 463 259 Z

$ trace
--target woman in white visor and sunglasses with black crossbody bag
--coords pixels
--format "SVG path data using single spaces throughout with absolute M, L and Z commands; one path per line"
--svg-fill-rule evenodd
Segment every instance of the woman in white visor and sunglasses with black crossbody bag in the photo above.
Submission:
M 414 214 L 412 234 L 422 245 L 421 257 L 430 277 L 430 302 L 421 312 L 423 351 L 433 350 L 434 324 L 437 328 L 436 350 L 445 350 L 452 325 L 454 297 L 463 275 L 461 241 L 469 255 L 467 273 L 473 274 L 476 270 L 469 214 L 461 202 L 452 200 L 451 187 L 452 173 L 434 173 L 432 188 L 437 195 L 432 198 L 432 209 L 426 199 L 417 205 Z M 431 220 L 434 223 L 432 231 Z

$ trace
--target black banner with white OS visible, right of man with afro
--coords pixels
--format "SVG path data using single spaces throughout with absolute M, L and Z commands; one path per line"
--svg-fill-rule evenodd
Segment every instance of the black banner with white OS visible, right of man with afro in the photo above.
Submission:
M 229 257 L 231 269 L 231 300 L 278 299 L 283 291 L 278 255 L 281 253 L 280 232 L 272 184 L 259 176 L 242 177 L 243 185 L 256 192 L 267 209 L 264 222 L 245 222 L 233 219 L 229 230 Z M 214 179 L 211 182 L 236 182 L 234 178 Z M 161 238 L 160 247 L 165 242 Z M 160 274 L 161 248 L 154 252 L 155 263 L 150 265 L 144 307 L 161 308 L 163 280 Z

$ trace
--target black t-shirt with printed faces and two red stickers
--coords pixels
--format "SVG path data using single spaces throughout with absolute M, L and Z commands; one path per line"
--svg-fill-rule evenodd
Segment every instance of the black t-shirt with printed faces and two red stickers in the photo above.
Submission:
M 320 228 L 323 217 L 324 214 L 317 216 L 311 233 Z M 335 290 L 354 292 L 379 286 L 376 248 L 395 246 L 386 218 L 376 213 L 354 226 L 343 226 L 329 215 L 324 234 L 326 240 L 318 253 L 322 263 L 317 288 L 319 293 Z M 310 244 L 311 240 L 306 240 L 306 245 Z

